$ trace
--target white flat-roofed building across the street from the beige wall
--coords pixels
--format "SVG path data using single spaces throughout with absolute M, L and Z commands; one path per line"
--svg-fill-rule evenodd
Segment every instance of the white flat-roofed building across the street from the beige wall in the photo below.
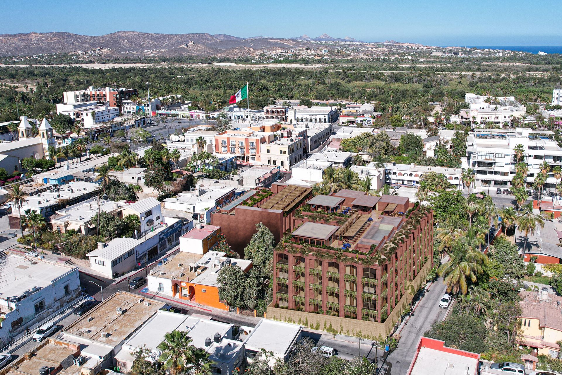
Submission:
M 246 357 L 250 362 L 263 358 L 271 367 L 278 360 L 282 363 L 287 362 L 291 350 L 301 340 L 301 336 L 302 326 L 261 319 L 244 342 Z M 271 340 L 273 337 L 275 340 Z M 269 355 L 266 356 L 264 351 Z

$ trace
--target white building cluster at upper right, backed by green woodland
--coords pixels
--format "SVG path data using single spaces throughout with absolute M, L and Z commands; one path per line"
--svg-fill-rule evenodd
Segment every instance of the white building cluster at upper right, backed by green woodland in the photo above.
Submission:
M 527 109 L 515 100 L 515 97 L 493 97 L 487 95 L 465 94 L 465 102 L 470 108 L 461 109 L 459 118 L 464 123 L 478 125 L 486 123 L 504 124 L 511 123 L 513 119 L 525 117 L 525 123 L 534 121 L 527 119 Z

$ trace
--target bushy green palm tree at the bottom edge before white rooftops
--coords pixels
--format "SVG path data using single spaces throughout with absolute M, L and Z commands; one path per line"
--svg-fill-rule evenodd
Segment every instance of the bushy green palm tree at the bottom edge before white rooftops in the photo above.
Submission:
M 193 346 L 191 337 L 187 332 L 174 329 L 164 335 L 164 341 L 158 344 L 158 349 L 162 351 L 160 361 L 164 368 L 170 371 L 171 375 L 179 375 L 183 372 L 193 359 Z

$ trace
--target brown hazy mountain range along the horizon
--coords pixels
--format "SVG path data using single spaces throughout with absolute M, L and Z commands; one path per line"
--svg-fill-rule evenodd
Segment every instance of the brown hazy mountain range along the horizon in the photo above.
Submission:
M 296 38 L 239 38 L 227 34 L 154 34 L 117 31 L 106 35 L 79 35 L 65 32 L 0 34 L 0 56 L 33 56 L 42 53 L 79 53 L 101 49 L 102 55 L 123 56 L 248 56 L 260 49 L 298 48 L 309 42 L 359 42 L 353 38 L 332 38 L 322 34 Z

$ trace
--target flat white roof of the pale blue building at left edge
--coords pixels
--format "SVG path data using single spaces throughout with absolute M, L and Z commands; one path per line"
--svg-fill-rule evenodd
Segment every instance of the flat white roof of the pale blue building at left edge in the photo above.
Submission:
M 34 264 L 35 263 L 35 264 Z M 74 268 L 47 263 L 40 259 L 33 262 L 24 256 L 0 254 L 0 299 L 21 296 L 34 287 L 44 288 Z M 33 293 L 32 293 L 33 294 Z M 33 298 L 33 297 L 28 297 Z

